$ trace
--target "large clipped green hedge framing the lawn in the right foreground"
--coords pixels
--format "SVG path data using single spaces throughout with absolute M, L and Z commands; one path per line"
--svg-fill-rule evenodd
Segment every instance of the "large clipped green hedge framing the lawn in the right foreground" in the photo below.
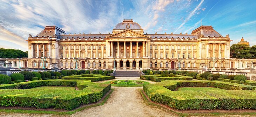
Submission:
M 215 87 L 224 91 L 172 91 L 176 87 Z M 162 81 L 143 85 L 151 101 L 178 110 L 256 109 L 254 86 L 219 81 Z

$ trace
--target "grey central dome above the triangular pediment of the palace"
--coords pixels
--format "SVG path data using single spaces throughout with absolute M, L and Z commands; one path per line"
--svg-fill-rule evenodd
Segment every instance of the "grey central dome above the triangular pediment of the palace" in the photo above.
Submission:
M 125 30 L 125 29 L 136 30 L 136 29 L 141 29 L 141 26 L 138 23 L 133 22 L 133 20 L 123 20 L 123 22 L 117 23 L 117 25 L 115 26 L 114 29 L 117 29 L 117 30 Z

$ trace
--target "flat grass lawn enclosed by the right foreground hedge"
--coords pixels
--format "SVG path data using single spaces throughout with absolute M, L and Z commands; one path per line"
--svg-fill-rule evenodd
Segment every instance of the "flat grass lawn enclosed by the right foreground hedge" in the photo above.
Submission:
M 177 91 L 225 91 L 214 87 L 180 87 Z

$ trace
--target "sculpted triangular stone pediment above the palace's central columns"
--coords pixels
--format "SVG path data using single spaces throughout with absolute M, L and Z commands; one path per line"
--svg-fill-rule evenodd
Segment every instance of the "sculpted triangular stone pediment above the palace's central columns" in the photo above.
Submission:
M 129 37 L 129 38 L 148 38 L 147 35 L 137 33 L 130 29 L 126 29 L 119 33 L 108 36 L 108 38 L 127 38 L 127 37 Z

